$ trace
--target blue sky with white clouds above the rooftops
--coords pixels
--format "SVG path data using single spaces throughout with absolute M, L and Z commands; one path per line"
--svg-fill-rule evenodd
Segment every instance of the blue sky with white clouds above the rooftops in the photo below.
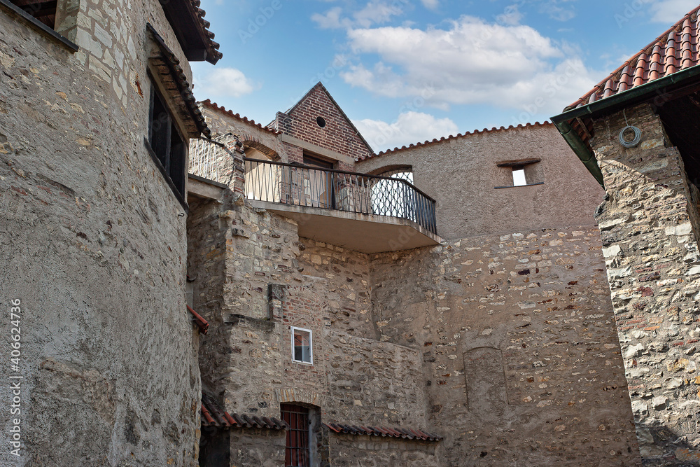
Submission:
M 195 96 L 266 125 L 322 81 L 375 151 L 543 121 L 699 0 L 202 0 Z

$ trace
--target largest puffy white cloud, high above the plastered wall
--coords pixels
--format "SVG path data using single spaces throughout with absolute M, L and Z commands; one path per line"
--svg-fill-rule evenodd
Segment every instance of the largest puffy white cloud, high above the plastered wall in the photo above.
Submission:
M 556 113 L 598 77 L 575 51 L 531 27 L 468 16 L 449 29 L 351 29 L 348 36 L 360 60 L 363 54 L 380 58 L 370 66 L 352 64 L 341 74 L 347 83 L 386 97 L 420 96 L 441 108 L 489 104 Z

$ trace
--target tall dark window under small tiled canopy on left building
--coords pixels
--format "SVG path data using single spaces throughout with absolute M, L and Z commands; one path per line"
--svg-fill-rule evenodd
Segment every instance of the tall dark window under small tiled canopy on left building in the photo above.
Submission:
M 187 146 L 174 118 L 165 105 L 165 99 L 151 82 L 151 112 L 148 117 L 148 144 L 160 161 L 176 190 L 176 195 L 183 199 L 185 195 L 185 161 Z

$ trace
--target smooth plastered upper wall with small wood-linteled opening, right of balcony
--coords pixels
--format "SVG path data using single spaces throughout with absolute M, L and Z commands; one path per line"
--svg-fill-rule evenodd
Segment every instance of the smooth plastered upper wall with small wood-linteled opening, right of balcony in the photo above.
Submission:
M 533 158 L 540 162 L 526 176 L 540 185 L 514 187 L 512 169 L 497 165 Z M 437 235 L 445 239 L 590 225 L 605 194 L 551 124 L 465 134 L 362 160 L 354 170 L 407 166 L 414 185 L 437 202 Z

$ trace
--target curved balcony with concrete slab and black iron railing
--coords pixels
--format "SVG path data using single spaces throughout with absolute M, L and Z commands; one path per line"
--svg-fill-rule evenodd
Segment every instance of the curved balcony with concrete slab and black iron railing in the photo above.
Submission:
M 435 200 L 411 183 L 244 158 L 254 206 L 294 219 L 299 236 L 363 253 L 440 244 Z

